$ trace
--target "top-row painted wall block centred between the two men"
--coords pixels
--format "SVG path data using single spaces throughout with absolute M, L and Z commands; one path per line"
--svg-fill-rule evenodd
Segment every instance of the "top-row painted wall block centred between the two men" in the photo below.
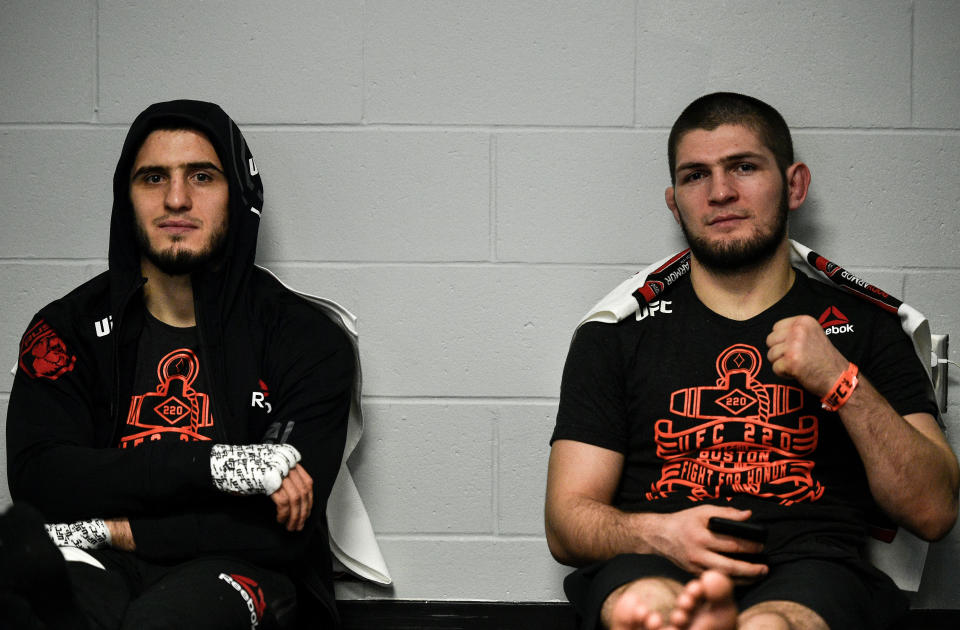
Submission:
M 634 3 L 365 4 L 368 122 L 633 122 Z

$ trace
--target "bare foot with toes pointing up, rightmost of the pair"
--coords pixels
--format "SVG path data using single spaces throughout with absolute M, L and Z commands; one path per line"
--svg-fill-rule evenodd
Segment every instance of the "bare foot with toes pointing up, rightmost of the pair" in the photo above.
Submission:
M 639 626 L 643 628 L 643 626 Z M 704 571 L 677 596 L 668 628 L 677 630 L 735 630 L 737 604 L 733 582 L 716 571 Z

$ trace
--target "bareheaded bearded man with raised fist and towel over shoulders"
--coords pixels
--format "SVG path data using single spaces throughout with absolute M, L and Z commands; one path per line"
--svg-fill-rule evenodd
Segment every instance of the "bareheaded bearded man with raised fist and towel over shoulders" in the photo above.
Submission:
M 689 251 L 594 307 L 564 368 L 546 533 L 579 567 L 566 593 L 584 628 L 886 628 L 907 602 L 868 524 L 939 539 L 960 482 L 907 307 L 829 286 L 851 276 L 787 237 L 810 170 L 766 103 L 697 99 L 668 161 Z

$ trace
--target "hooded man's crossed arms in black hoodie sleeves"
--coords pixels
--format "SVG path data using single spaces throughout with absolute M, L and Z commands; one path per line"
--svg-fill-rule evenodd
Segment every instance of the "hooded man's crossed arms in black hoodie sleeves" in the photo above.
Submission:
M 276 384 L 275 415 L 295 426 L 289 439 L 303 460 L 281 465 L 272 483 L 253 491 L 217 485 L 209 443 L 103 448 L 104 423 L 94 420 L 88 383 L 75 373 L 57 382 L 18 373 L 7 441 L 14 498 L 33 503 L 53 523 L 100 520 L 112 546 L 147 557 L 230 551 L 274 563 L 295 559 L 310 523 L 323 518 L 345 440 L 354 357 L 349 340 L 333 341 L 325 352 L 305 348 L 292 360 L 274 361 L 285 371 L 265 376 Z

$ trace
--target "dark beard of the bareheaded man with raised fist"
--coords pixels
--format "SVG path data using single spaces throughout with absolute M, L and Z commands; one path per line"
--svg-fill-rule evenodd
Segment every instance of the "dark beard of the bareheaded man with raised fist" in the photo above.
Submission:
M 701 265 L 715 273 L 750 271 L 773 258 L 787 236 L 787 190 L 784 186 L 773 227 L 764 233 L 757 230 L 753 235 L 729 243 L 711 243 L 690 233 L 681 216 L 680 228 L 687 240 L 690 252 Z

